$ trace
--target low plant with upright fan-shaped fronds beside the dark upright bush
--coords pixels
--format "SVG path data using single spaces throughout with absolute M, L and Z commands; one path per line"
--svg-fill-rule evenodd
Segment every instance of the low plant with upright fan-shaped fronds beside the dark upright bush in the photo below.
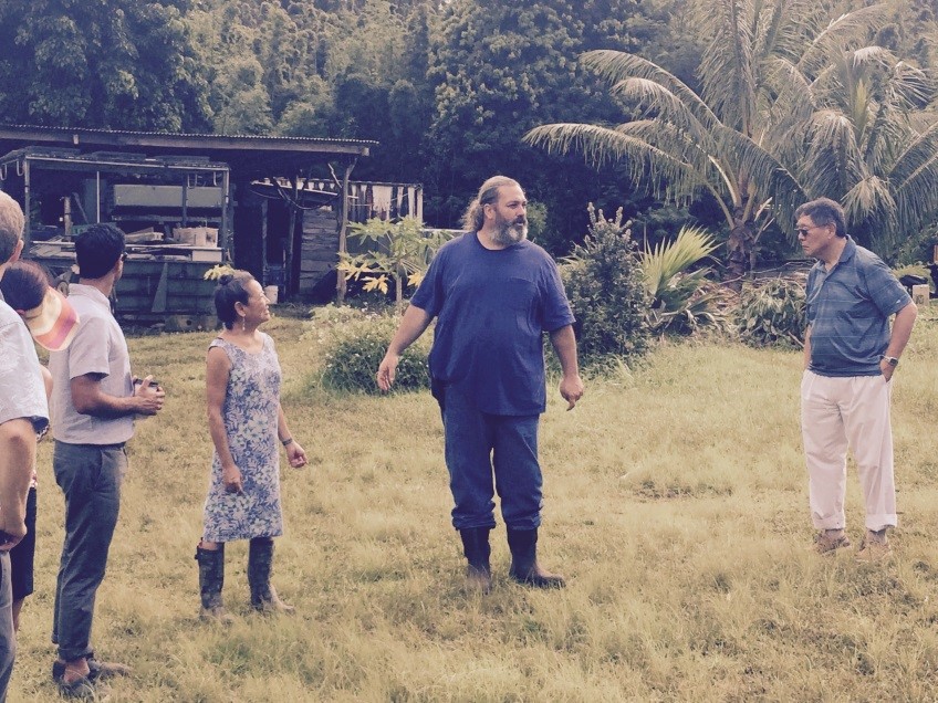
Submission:
M 645 248 L 642 269 L 652 297 L 648 319 L 653 329 L 687 333 L 721 322 L 717 293 L 706 288 L 710 269 L 688 271 L 716 249 L 706 230 L 689 225 L 682 227 L 673 242 Z

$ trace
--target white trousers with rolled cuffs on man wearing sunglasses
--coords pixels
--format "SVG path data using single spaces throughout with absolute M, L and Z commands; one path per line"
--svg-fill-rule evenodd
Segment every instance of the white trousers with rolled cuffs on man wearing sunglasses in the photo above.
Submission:
M 866 528 L 896 525 L 890 395 L 892 386 L 883 376 L 833 378 L 804 371 L 801 433 L 815 528 L 846 526 L 848 448 L 856 462 L 866 504 Z

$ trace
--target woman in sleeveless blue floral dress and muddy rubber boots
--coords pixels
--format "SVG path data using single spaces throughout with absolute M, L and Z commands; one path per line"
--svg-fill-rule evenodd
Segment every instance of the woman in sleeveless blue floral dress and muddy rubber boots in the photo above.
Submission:
M 306 464 L 306 453 L 291 437 L 280 407 L 281 374 L 273 340 L 258 330 L 270 319 L 260 283 L 244 271 L 221 276 L 215 307 L 225 329 L 212 340 L 206 360 L 215 454 L 196 560 L 201 616 L 228 621 L 221 589 L 225 543 L 232 539 L 250 541 L 251 606 L 262 612 L 293 610 L 270 585 L 273 537 L 283 534 L 278 440 L 295 469 Z

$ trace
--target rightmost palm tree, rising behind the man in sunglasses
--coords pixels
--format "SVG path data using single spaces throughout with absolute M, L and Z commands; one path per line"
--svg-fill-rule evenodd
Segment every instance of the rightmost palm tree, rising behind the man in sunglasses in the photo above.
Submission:
M 929 76 L 882 46 L 830 56 L 796 130 L 811 193 L 843 203 L 851 232 L 888 250 L 938 213 L 938 114 Z

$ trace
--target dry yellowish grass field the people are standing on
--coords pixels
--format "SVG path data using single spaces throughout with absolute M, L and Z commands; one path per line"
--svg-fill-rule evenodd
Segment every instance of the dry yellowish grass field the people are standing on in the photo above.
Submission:
M 938 311 L 936 311 L 938 312 Z M 237 622 L 198 620 L 192 559 L 211 454 L 209 333 L 131 340 L 166 387 L 138 423 L 94 643 L 131 663 L 112 701 L 925 701 L 938 690 L 938 314 L 919 318 L 895 377 L 900 525 L 895 556 L 807 550 L 801 355 L 669 344 L 592 381 L 542 423 L 541 555 L 563 591 L 507 578 L 462 589 L 439 413 L 429 395 L 336 397 L 320 349 L 277 318 L 284 407 L 311 465 L 283 469 L 274 584 L 296 606 L 248 607 L 244 544 L 228 548 Z M 49 641 L 62 500 L 40 457 L 37 594 L 22 616 L 12 701 L 56 700 Z M 848 533 L 863 532 L 850 476 Z

